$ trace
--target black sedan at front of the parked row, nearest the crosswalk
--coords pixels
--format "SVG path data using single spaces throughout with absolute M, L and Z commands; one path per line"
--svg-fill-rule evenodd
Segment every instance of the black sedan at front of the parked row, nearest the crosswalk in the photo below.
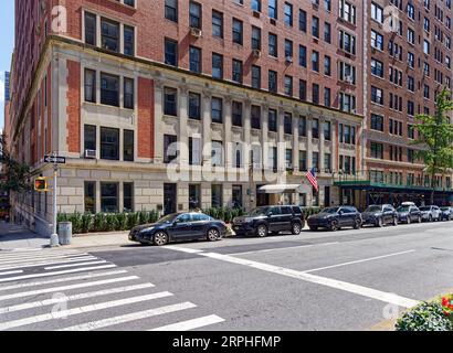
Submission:
M 227 225 L 203 213 L 176 213 L 155 224 L 133 228 L 129 240 L 166 245 L 170 242 L 208 239 L 215 242 L 227 234 Z

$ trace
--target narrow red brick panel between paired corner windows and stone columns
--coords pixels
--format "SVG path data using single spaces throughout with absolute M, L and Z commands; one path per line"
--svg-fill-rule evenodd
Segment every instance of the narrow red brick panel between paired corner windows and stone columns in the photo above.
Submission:
M 154 82 L 138 78 L 138 158 L 155 157 L 155 88 Z

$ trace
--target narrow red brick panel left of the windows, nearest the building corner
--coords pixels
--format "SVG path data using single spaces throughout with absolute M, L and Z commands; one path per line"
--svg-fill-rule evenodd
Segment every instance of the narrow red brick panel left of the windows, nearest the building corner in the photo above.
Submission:
M 81 63 L 67 61 L 67 151 L 81 151 Z

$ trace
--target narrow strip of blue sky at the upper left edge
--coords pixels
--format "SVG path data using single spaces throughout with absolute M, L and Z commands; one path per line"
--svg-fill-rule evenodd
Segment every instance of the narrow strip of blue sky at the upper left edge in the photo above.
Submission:
M 14 0 L 0 0 L 0 129 L 4 120 L 4 72 L 10 71 L 14 47 Z

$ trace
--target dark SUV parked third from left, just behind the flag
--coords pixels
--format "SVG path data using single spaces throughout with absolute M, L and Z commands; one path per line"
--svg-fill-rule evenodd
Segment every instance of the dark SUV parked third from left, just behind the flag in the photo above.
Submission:
M 320 213 L 309 216 L 307 222 L 312 231 L 328 228 L 335 232 L 344 227 L 359 229 L 362 220 L 360 212 L 356 207 L 341 206 L 324 208 Z

